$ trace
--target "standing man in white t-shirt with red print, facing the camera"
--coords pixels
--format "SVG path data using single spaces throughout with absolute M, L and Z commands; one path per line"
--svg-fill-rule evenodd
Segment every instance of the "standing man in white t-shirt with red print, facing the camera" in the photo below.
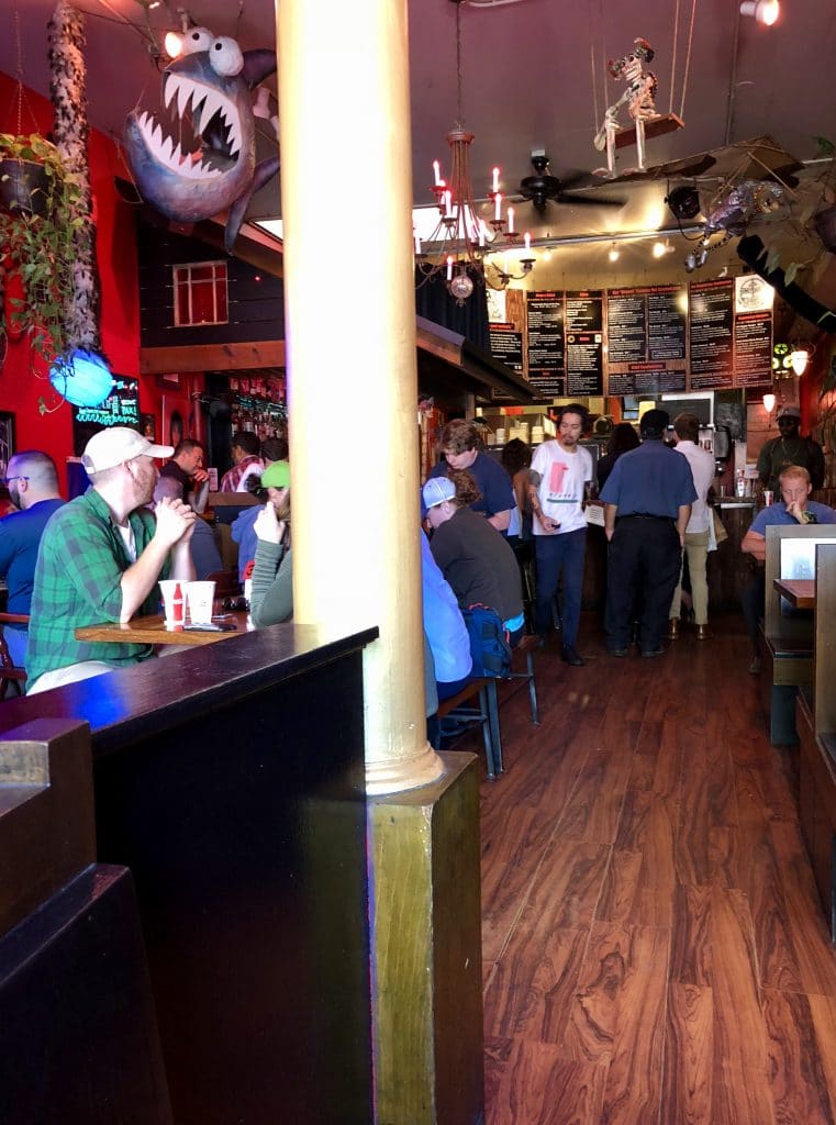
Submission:
M 585 484 L 592 480 L 592 458 L 578 446 L 585 417 L 585 407 L 574 403 L 564 406 L 557 439 L 539 447 L 529 471 L 537 557 L 537 631 L 545 644 L 552 626 L 551 603 L 563 576 L 561 658 L 573 667 L 585 663 L 575 648 L 586 558 L 583 502 Z

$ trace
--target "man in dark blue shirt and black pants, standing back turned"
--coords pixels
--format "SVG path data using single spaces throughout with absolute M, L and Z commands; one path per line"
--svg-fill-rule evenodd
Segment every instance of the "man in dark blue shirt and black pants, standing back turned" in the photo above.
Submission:
M 601 492 L 610 540 L 605 629 L 611 656 L 627 656 L 637 597 L 641 655 L 664 652 L 662 638 L 696 500 L 691 466 L 662 440 L 668 422 L 665 411 L 642 415 L 641 444 L 619 457 Z

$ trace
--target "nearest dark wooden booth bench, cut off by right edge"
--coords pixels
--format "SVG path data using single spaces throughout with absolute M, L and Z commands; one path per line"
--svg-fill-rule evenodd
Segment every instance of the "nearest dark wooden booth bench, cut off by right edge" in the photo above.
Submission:
M 799 819 L 816 886 L 836 942 L 836 543 L 816 548 L 813 680 L 795 702 Z

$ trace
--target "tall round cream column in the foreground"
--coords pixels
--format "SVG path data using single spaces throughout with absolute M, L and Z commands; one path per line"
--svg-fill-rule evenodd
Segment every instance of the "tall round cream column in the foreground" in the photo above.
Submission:
M 279 0 L 294 618 L 366 649 L 369 793 L 426 742 L 406 0 Z

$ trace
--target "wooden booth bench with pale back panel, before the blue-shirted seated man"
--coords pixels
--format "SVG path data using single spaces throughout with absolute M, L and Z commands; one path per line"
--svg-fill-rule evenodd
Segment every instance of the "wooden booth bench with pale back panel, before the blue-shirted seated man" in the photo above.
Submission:
M 776 578 L 812 578 L 816 546 L 836 542 L 836 526 L 766 528 L 764 619 L 761 628 L 761 695 L 773 746 L 798 745 L 795 695 L 812 684 L 811 610 L 793 608 L 775 590 Z

